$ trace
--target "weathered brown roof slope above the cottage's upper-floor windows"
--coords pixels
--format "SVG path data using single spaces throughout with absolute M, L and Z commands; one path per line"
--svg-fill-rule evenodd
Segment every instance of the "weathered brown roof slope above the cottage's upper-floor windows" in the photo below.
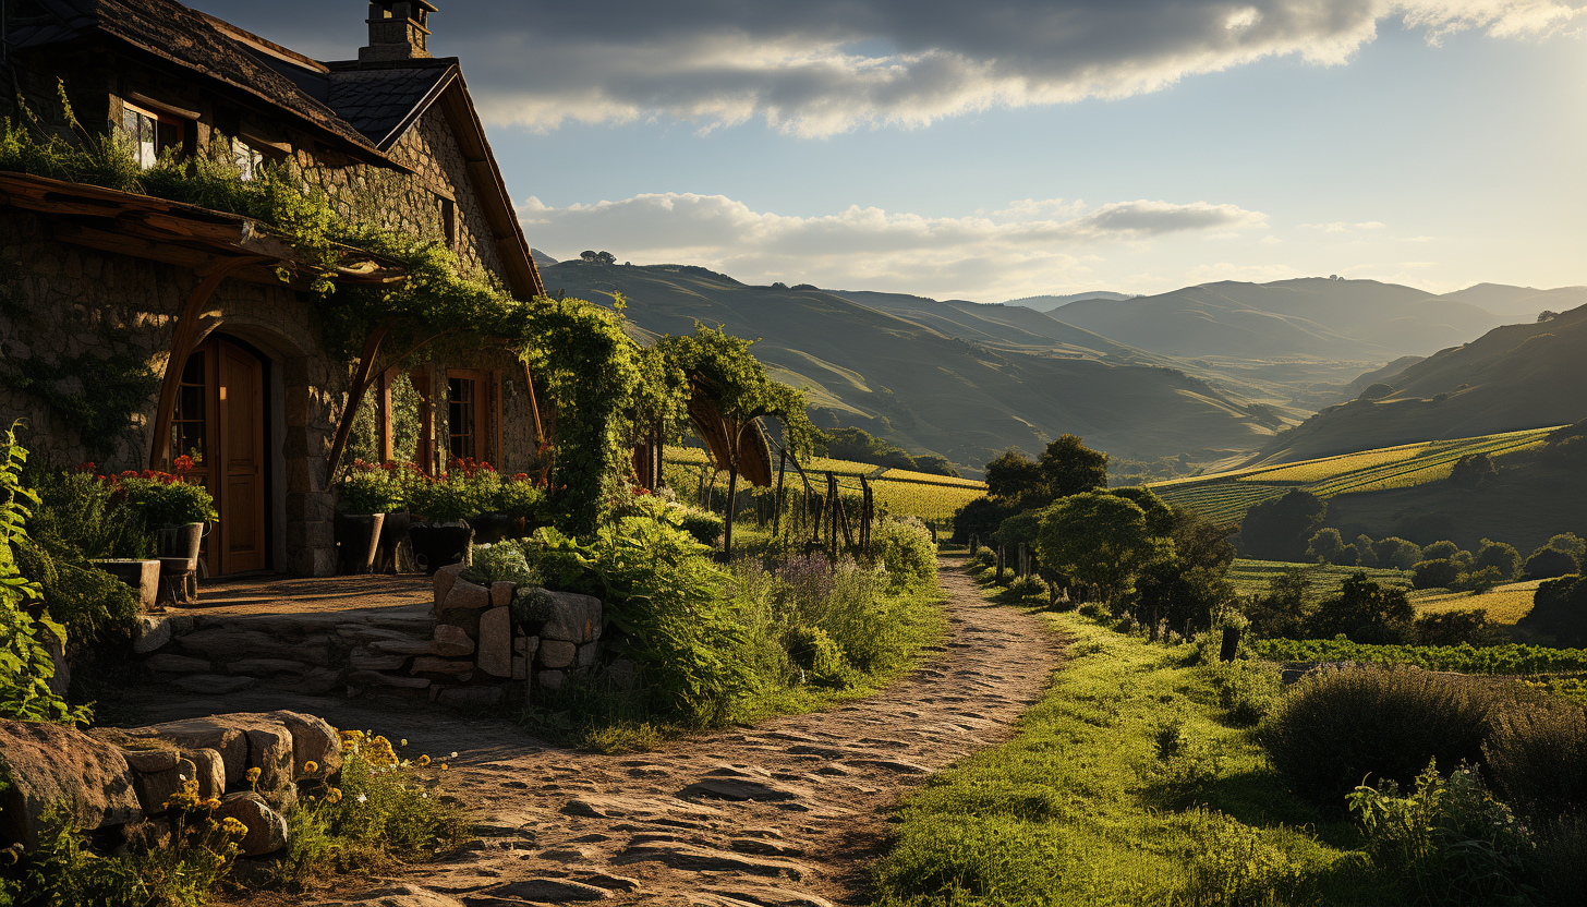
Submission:
M 10 22 L 13 51 L 103 35 L 281 108 L 333 143 L 386 159 L 375 141 L 332 106 L 175 0 L 32 0 L 32 5 L 35 14 L 19 10 Z

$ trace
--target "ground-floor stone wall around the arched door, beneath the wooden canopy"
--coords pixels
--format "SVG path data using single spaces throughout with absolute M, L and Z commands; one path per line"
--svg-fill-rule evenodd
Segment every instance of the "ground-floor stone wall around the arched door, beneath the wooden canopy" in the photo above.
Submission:
M 176 318 L 197 284 L 194 272 L 54 240 L 40 214 L 0 213 L 0 291 L 17 303 L 0 311 L 0 359 L 41 357 L 60 373 L 57 389 L 84 392 L 63 364 L 78 356 L 122 354 L 165 373 Z M 271 438 L 284 464 L 286 551 L 278 564 L 294 573 L 335 570 L 332 496 L 325 457 L 346 400 L 351 369 L 322 351 L 314 303 L 286 286 L 241 280 L 221 283 L 205 308 L 203 332 L 235 335 L 271 359 L 281 375 L 278 400 L 286 432 Z M 8 369 L 10 372 L 10 369 Z M 159 391 L 140 407 L 119 438 L 90 448 L 78 427 L 25 389 L 0 386 L 0 423 L 27 419 L 22 443 L 60 467 L 92 461 L 100 472 L 144 469 L 152 453 Z

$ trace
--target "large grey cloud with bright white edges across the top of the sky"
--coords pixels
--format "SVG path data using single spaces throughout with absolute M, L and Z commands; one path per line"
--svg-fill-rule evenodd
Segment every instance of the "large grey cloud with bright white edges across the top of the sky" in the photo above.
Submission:
M 827 137 L 922 127 L 992 106 L 1155 92 L 1268 57 L 1349 62 L 1379 22 L 1428 41 L 1547 35 L 1570 0 L 811 0 L 494 8 L 446 29 L 489 121 L 536 130 L 665 118 L 701 130 L 759 119 Z M 449 8 L 449 16 L 465 14 Z M 860 52 L 865 48 L 868 52 Z M 881 48 L 881 49 L 878 49 Z

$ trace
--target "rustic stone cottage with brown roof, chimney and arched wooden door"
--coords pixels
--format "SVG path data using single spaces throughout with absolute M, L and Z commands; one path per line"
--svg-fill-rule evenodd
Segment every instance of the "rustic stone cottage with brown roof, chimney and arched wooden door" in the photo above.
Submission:
M 376 0 L 368 46 L 324 62 L 175 0 L 10 0 L 0 95 L 27 100 L 0 113 L 119 132 L 143 168 L 168 149 L 244 178 L 284 162 L 343 216 L 433 237 L 521 299 L 543 294 L 459 60 L 425 48 L 435 11 Z M 338 256 L 340 284 L 405 276 L 359 249 Z M 398 375 L 360 373 L 327 349 L 302 264 L 248 218 L 0 173 L 0 375 L 30 365 L 57 399 L 89 400 L 114 391 L 102 383 L 114 357 L 159 378 L 111 438 L 87 437 L 37 383 L 0 381 L 0 424 L 25 418 L 24 443 L 67 467 L 192 456 L 221 511 L 211 575 L 333 572 L 330 456 L 354 416 L 349 391 L 373 394 L 389 454 Z M 543 432 L 524 364 L 489 349 L 449 356 L 463 361 L 405 372 L 421 400 L 417 462 L 533 472 Z

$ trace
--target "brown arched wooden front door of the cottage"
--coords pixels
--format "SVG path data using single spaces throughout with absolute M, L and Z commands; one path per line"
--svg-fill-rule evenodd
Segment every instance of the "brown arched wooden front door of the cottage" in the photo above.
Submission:
M 205 540 L 211 575 L 268 567 L 265 389 L 265 361 L 227 337 L 200 343 L 183 369 L 171 461 L 194 459 L 192 477 L 209 489 L 221 513 Z

